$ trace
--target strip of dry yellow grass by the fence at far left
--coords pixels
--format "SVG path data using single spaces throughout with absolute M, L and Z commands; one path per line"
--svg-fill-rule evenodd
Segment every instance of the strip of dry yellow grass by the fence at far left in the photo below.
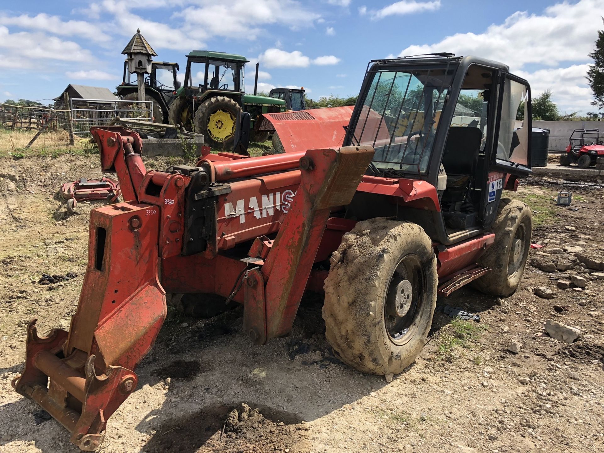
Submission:
M 25 148 L 36 135 L 36 130 L 0 129 L 0 156 L 21 158 L 28 155 L 45 155 L 59 153 L 81 154 L 91 150 L 88 138 L 76 136 L 76 144 L 69 146 L 69 133 L 66 130 L 42 132 L 31 148 Z

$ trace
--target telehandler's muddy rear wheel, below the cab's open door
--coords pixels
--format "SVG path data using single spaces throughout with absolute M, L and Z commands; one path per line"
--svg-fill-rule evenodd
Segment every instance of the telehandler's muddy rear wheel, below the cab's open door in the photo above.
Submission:
M 518 289 L 527 262 L 533 232 L 530 208 L 521 201 L 502 198 L 492 231 L 495 242 L 478 260 L 492 271 L 471 284 L 485 294 L 507 297 Z

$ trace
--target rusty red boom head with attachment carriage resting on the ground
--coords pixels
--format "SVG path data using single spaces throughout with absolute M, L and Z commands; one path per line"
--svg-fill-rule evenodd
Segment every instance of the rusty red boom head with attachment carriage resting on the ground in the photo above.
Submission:
M 25 370 L 13 381 L 85 451 L 100 448 L 107 420 L 137 387 L 134 369 L 166 315 L 157 207 L 126 202 L 90 217 L 88 268 L 71 329 L 39 337 L 31 321 Z

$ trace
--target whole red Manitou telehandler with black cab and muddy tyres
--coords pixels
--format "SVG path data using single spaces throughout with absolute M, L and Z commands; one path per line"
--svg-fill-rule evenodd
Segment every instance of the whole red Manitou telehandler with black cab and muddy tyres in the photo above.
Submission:
M 531 121 L 514 127 L 521 105 L 531 118 L 528 83 L 506 65 L 431 54 L 370 62 L 338 149 L 321 147 L 316 123 L 316 145 L 297 152 L 147 171 L 137 133 L 92 127 L 124 202 L 91 211 L 69 332 L 38 336 L 31 321 L 15 390 L 92 451 L 137 387 L 167 301 L 243 304 L 245 335 L 262 345 L 288 335 L 306 289 L 325 295 L 342 362 L 401 373 L 437 295 L 518 288 L 532 217 L 503 191 L 531 173 Z

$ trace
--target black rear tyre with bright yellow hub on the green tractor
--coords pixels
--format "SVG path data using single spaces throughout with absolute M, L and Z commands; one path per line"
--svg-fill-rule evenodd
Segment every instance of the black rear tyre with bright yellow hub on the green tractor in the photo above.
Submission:
M 233 147 L 237 114 L 241 107 L 225 96 L 205 100 L 195 112 L 195 132 L 204 134 L 204 141 L 217 149 Z

